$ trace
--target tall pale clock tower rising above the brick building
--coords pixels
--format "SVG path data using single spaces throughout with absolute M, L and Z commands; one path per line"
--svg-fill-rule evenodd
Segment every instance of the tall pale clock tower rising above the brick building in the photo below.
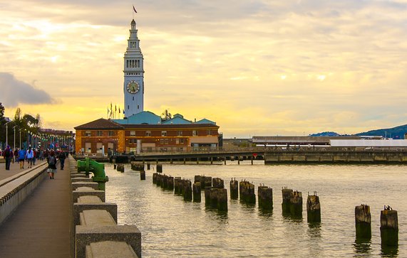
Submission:
M 124 54 L 124 114 L 130 117 L 144 111 L 144 68 L 143 53 L 135 21 L 130 23 L 130 37 Z

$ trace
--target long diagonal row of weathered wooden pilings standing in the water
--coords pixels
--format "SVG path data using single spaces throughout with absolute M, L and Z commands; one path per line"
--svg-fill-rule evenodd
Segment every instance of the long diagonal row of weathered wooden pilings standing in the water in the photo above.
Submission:
M 132 167 L 133 168 L 133 167 Z M 144 166 L 143 166 L 144 168 Z M 135 170 L 137 170 L 136 168 Z M 159 169 L 157 169 L 158 171 Z M 160 168 L 162 171 L 162 167 Z M 142 172 L 142 171 L 140 171 Z M 145 171 L 144 171 L 145 179 Z M 194 183 L 180 177 L 153 173 L 153 183 L 161 186 L 165 190 L 174 190 L 176 195 L 182 195 L 186 201 L 201 201 L 201 191 L 205 190 L 205 205 L 218 210 L 227 210 L 227 189 L 221 178 L 210 176 L 195 176 Z M 243 203 L 256 203 L 254 184 L 242 180 L 240 182 L 233 179 L 230 181 L 230 198 L 238 199 Z M 260 185 L 257 188 L 259 208 L 264 210 L 273 209 L 273 190 L 268 186 Z M 287 187 L 282 188 L 282 212 L 284 215 L 292 217 L 302 217 L 302 192 L 292 190 Z M 319 196 L 314 192 L 306 200 L 307 222 L 321 222 L 321 204 Z M 371 239 L 371 214 L 369 205 L 359 205 L 355 207 L 356 239 Z M 381 244 L 387 246 L 398 245 L 398 215 L 396 210 L 385 206 L 381 210 Z

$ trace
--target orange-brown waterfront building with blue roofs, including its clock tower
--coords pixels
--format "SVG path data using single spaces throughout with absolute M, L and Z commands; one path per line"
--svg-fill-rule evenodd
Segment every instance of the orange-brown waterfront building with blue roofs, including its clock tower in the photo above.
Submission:
M 76 152 L 92 154 L 215 149 L 222 144 L 219 127 L 209 119 L 190 121 L 181 114 L 162 118 L 144 111 L 143 54 L 135 21 L 124 55 L 124 119 L 96 119 L 76 129 Z

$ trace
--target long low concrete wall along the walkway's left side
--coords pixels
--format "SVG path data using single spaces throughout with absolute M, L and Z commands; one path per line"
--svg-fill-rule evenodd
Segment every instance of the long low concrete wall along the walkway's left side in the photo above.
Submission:
M 0 181 L 0 225 L 46 178 L 46 163 Z

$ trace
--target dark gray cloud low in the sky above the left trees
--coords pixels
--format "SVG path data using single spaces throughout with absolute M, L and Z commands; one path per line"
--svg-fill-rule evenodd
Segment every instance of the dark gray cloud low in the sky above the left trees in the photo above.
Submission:
M 44 90 L 38 90 L 26 82 L 17 80 L 8 72 L 0 72 L 0 102 L 5 107 L 18 104 L 53 104 L 56 101 Z

